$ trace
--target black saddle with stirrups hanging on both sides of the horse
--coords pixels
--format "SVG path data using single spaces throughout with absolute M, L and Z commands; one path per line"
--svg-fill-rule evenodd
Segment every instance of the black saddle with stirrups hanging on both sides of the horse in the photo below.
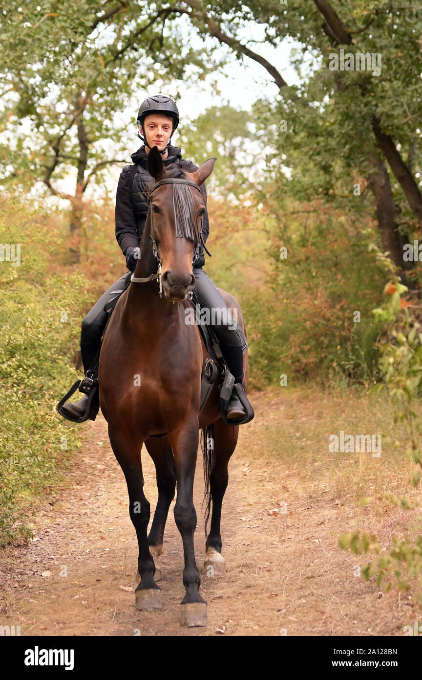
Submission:
M 107 329 L 107 326 L 109 325 L 109 321 L 111 319 L 111 314 L 113 313 L 113 309 L 115 308 L 115 305 L 117 303 L 117 300 L 121 296 L 121 294 L 128 288 L 130 284 L 130 273 L 128 274 L 128 277 L 126 277 L 126 282 L 125 282 L 125 287 L 123 290 L 115 290 L 113 293 L 115 293 L 115 296 L 107 302 L 106 305 L 104 305 L 104 311 L 107 311 L 108 313 L 108 318 L 107 318 L 107 323 L 104 326 L 104 332 L 102 337 L 104 337 L 104 333 Z M 199 301 L 197 299 L 197 296 L 195 294 L 195 291 L 191 292 L 191 296 L 189 298 L 189 302 L 191 306 L 195 309 L 195 313 L 197 310 L 200 310 L 201 307 L 199 305 Z M 229 406 L 229 401 L 231 394 L 233 390 L 235 390 L 239 401 L 242 403 L 242 406 L 244 407 L 246 411 L 246 415 L 241 420 L 240 422 L 236 422 L 236 425 L 242 425 L 244 423 L 249 422 L 254 418 L 254 410 L 252 409 L 252 406 L 248 402 L 248 400 L 245 398 L 244 391 L 242 389 L 237 389 L 237 384 L 235 384 L 235 379 L 233 375 L 229 371 L 229 367 L 227 366 L 227 363 L 225 362 L 225 359 L 223 357 L 223 353 L 220 350 L 220 345 L 218 343 L 218 338 L 216 334 L 214 333 L 214 330 L 212 326 L 209 324 L 206 324 L 201 316 L 196 316 L 196 322 L 197 325 L 199 326 L 199 331 L 202 335 L 202 338 L 204 339 L 204 344 L 206 346 L 207 350 L 207 358 L 204 363 L 204 367 L 202 368 L 202 375 L 201 375 L 201 396 L 200 396 L 200 402 L 199 402 L 199 413 L 204 409 L 208 398 L 212 392 L 212 388 L 214 387 L 214 384 L 216 382 L 216 379 L 218 376 L 220 376 L 220 379 L 218 381 L 218 392 L 220 394 L 220 415 L 221 418 L 233 425 L 233 422 L 227 420 L 225 417 L 225 414 L 227 413 L 227 407 Z M 239 334 L 242 336 L 243 339 L 243 346 L 242 346 L 242 352 L 243 354 L 246 354 L 248 351 L 248 341 L 246 340 L 246 337 L 242 331 L 242 328 L 237 328 L 237 331 Z M 94 362 L 92 362 L 92 366 L 90 369 L 86 372 L 85 377 L 83 380 L 77 380 L 69 392 L 60 400 L 57 406 L 57 410 L 59 413 L 61 407 L 68 401 L 68 399 L 76 392 L 76 390 L 79 389 L 79 392 L 82 392 L 83 394 L 86 394 L 88 396 L 88 405 L 87 405 L 87 410 L 81 418 L 75 418 L 75 422 L 85 422 L 85 420 L 88 420 L 88 418 L 91 418 L 91 420 L 95 420 L 92 418 L 92 413 L 98 413 L 98 407 L 99 407 L 99 396 L 98 396 L 98 363 L 100 360 L 100 351 L 101 351 L 101 345 L 98 349 L 98 352 L 96 354 L 96 357 L 94 358 Z M 61 415 L 63 415 L 61 413 Z M 66 418 L 69 418 L 69 415 L 65 416 Z

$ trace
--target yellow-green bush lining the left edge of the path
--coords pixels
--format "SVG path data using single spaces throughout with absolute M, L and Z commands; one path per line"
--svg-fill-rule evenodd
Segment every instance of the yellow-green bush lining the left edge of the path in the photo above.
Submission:
M 56 404 L 77 377 L 87 283 L 50 273 L 57 239 L 45 212 L 1 205 L 0 241 L 20 243 L 21 262 L 0 262 L 0 543 L 29 535 L 31 502 L 54 489 L 79 446 Z

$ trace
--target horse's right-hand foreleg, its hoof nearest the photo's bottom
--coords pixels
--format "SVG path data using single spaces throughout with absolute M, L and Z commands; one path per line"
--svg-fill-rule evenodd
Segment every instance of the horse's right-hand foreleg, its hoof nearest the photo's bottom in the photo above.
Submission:
M 174 453 L 177 498 L 174 505 L 174 520 L 180 531 L 185 555 L 183 585 L 186 594 L 180 603 L 182 626 L 206 626 L 206 602 L 199 595 L 201 579 L 195 561 L 193 534 L 196 528 L 196 511 L 193 505 L 193 479 L 198 447 L 198 422 L 178 424 L 170 434 L 170 444 Z

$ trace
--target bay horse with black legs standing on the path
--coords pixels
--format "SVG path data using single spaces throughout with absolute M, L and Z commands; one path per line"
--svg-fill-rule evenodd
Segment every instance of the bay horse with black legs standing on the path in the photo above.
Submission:
M 136 607 L 161 608 L 156 580 L 160 576 L 164 526 L 177 485 L 174 519 L 185 556 L 186 592 L 180 603 L 183 626 L 207 623 L 207 605 L 199 594 L 201 579 L 193 547 L 197 523 L 193 479 L 199 430 L 204 435 L 206 428 L 214 424 L 214 452 L 210 454 L 204 445 L 208 515 L 212 505 L 204 564 L 208 575 L 225 570 L 221 555 L 221 505 L 229 479 L 227 465 L 239 430 L 239 426 L 220 418 L 218 378 L 199 413 L 201 373 L 207 352 L 198 326 L 185 322 L 187 295 L 195 286 L 192 260 L 199 233 L 196 227 L 206 211 L 199 187 L 212 173 L 215 161 L 216 158 L 208 158 L 197 171 L 187 173 L 174 165 L 166 168 L 157 148 L 149 152 L 147 169 L 155 183 L 149 194 L 138 262 L 132 282 L 121 294 L 104 334 L 98 369 L 100 407 L 108 422 L 111 447 L 126 477 L 130 519 L 138 539 L 141 578 L 135 591 Z M 235 299 L 223 290 L 220 293 L 228 307 L 237 308 L 237 323 L 245 330 Z M 246 391 L 247 354 L 244 376 Z M 143 491 L 140 456 L 144 443 L 155 464 L 158 488 L 148 535 L 150 505 Z

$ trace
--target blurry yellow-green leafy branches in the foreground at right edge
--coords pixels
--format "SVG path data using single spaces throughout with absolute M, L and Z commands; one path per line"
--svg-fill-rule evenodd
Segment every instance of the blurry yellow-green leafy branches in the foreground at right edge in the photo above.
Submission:
M 402 285 L 394 262 L 375 245 L 371 245 L 371 250 L 389 276 L 385 285 L 387 301 L 374 310 L 382 329 L 378 345 L 383 375 L 383 383 L 375 389 L 387 392 L 394 406 L 394 422 L 400 424 L 407 435 L 406 458 L 414 464 L 409 482 L 416 487 L 421 481 L 422 468 L 422 324 L 415 315 L 415 311 L 419 311 L 417 305 L 406 299 L 408 289 Z M 398 499 L 394 502 L 397 504 Z M 404 510 L 410 509 L 406 498 L 401 498 L 401 503 Z M 355 554 L 375 553 L 375 560 L 363 569 L 364 577 L 376 575 L 378 584 L 387 581 L 386 590 L 393 583 L 398 590 L 415 588 L 422 605 L 422 517 L 416 520 L 417 524 L 404 533 L 403 539 L 394 537 L 393 545 L 382 553 L 377 537 L 369 538 L 365 532 L 347 532 L 339 537 L 339 545 Z

